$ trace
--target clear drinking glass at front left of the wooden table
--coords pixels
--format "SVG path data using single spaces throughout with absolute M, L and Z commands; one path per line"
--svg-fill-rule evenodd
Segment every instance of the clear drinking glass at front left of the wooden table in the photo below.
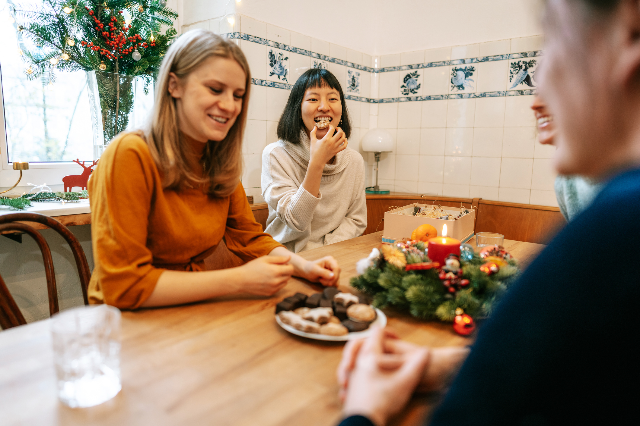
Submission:
M 92 407 L 120 392 L 120 310 L 72 308 L 52 317 L 58 397 L 69 407 Z

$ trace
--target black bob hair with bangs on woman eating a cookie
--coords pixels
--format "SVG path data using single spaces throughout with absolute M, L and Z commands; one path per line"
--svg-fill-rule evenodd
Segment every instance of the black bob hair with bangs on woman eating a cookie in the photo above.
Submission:
M 282 111 L 280 121 L 278 121 L 278 139 L 291 142 L 292 144 L 300 143 L 300 132 L 302 130 L 306 132 L 305 123 L 303 123 L 301 117 L 302 100 L 305 97 L 307 89 L 310 87 L 323 86 L 329 86 L 340 93 L 340 103 L 342 104 L 342 125 L 340 125 L 340 128 L 347 139 L 349 139 L 351 136 L 351 119 L 349 118 L 342 87 L 340 87 L 340 82 L 335 78 L 335 75 L 324 68 L 308 69 L 298 78 L 296 84 L 293 85 L 289 100 L 287 100 L 287 105 L 284 107 L 284 111 Z M 338 126 L 335 125 L 335 127 Z

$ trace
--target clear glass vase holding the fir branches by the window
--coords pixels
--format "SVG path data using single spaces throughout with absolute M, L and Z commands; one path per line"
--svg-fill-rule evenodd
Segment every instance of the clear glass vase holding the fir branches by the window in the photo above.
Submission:
M 140 128 L 153 108 L 153 84 L 135 75 L 86 73 L 93 129 L 93 159 L 118 133 Z

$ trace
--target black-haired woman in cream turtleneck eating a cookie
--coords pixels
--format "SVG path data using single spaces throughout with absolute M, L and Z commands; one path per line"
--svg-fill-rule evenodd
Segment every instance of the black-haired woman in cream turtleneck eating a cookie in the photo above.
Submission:
M 323 120 L 329 125 L 318 128 Z M 364 160 L 348 148 L 350 134 L 335 75 L 307 70 L 278 122 L 280 141 L 262 152 L 265 231 L 294 253 L 360 236 L 367 227 Z

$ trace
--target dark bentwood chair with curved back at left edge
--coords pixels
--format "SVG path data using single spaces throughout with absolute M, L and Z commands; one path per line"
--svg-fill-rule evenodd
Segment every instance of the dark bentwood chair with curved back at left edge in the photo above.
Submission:
M 82 294 L 84 298 L 84 304 L 88 305 L 87 299 L 87 287 L 91 278 L 91 271 L 89 270 L 89 264 L 86 261 L 86 255 L 84 250 L 78 242 L 76 236 L 68 230 L 68 228 L 55 220 L 54 218 L 41 215 L 40 213 L 11 213 L 9 215 L 0 215 L 0 233 L 4 231 L 20 231 L 31 235 L 33 239 L 40 247 L 42 252 L 42 260 L 44 261 L 44 271 L 47 277 L 47 291 L 49 293 L 49 314 L 53 315 L 60 311 L 58 307 L 58 289 L 56 288 L 56 275 L 53 270 L 53 261 L 51 259 L 51 250 L 47 241 L 44 239 L 40 232 L 28 224 L 22 222 L 36 222 L 57 231 L 62 236 L 76 259 L 76 266 L 80 275 L 80 285 L 82 286 Z M 18 308 L 18 305 L 13 300 L 11 293 L 9 293 L 4 280 L 0 276 L 0 326 L 4 329 L 26 324 L 27 322 L 22 316 L 22 312 Z

